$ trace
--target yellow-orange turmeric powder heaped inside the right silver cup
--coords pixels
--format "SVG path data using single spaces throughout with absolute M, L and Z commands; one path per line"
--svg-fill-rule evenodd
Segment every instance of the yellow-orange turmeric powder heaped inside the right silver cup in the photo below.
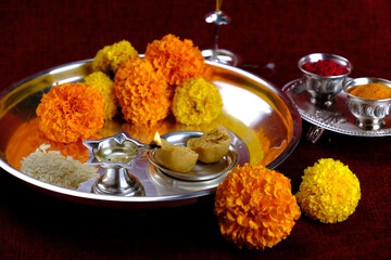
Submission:
M 366 100 L 391 99 L 391 88 L 382 83 L 369 82 L 367 84 L 360 84 L 351 88 L 348 92 Z

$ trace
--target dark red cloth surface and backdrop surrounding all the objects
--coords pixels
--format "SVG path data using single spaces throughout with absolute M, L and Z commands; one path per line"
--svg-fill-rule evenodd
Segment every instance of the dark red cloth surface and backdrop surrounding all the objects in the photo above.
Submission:
M 93 57 L 122 39 L 143 53 L 166 34 L 212 44 L 204 15 L 213 0 L 16 1 L 0 3 L 0 92 L 33 74 Z M 220 47 L 241 55 L 243 67 L 277 87 L 299 78 L 298 60 L 312 52 L 349 58 L 352 77 L 391 79 L 391 3 L 387 0 L 224 1 L 232 18 Z M 275 70 L 265 67 L 276 65 Z M 94 208 L 49 197 L 0 171 L 1 259 L 247 259 L 391 257 L 391 138 L 355 138 L 326 131 L 303 138 L 277 170 L 295 193 L 303 170 L 332 157 L 361 181 L 356 212 L 338 224 L 302 216 L 290 236 L 265 251 L 224 240 L 213 198 L 195 205 L 135 211 Z

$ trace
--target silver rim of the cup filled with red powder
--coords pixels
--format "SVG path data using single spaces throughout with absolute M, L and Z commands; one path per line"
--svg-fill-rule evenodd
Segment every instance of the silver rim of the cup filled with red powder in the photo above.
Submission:
M 319 55 L 321 57 L 327 57 L 327 58 L 324 58 L 324 60 L 342 61 L 343 63 L 346 64 L 344 66 L 346 66 L 348 73 L 341 74 L 341 75 L 336 75 L 336 76 L 321 76 L 321 75 L 313 74 L 313 73 L 310 73 L 310 72 L 303 69 L 304 62 L 307 61 L 310 56 L 315 56 L 315 55 Z M 305 56 L 302 56 L 298 61 L 298 67 L 303 74 L 306 74 L 306 75 L 310 75 L 312 77 L 319 78 L 319 79 L 343 78 L 343 77 L 346 77 L 348 75 L 350 75 L 352 73 L 352 70 L 353 70 L 353 64 L 348 58 L 345 58 L 343 56 L 340 56 L 340 55 L 337 55 L 337 54 L 331 54 L 331 53 L 311 53 L 311 54 L 307 54 Z

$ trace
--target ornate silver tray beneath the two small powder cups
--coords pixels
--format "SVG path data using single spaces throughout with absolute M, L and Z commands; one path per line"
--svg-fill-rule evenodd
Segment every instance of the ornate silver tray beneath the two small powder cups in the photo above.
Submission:
M 310 93 L 305 90 L 302 79 L 295 79 L 283 86 L 282 91 L 293 101 L 301 117 L 308 122 L 330 131 L 356 136 L 391 135 L 391 117 L 384 119 L 386 127 L 380 130 L 364 130 L 356 125 L 356 118 L 348 107 L 348 96 L 341 91 L 336 103 L 327 108 L 320 108 L 311 103 Z

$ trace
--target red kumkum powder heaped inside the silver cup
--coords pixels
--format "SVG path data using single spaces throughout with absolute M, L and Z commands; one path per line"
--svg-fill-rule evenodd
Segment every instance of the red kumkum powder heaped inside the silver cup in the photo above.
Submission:
M 348 73 L 348 68 L 332 60 L 317 61 L 316 63 L 306 62 L 303 69 L 319 76 L 338 76 Z

